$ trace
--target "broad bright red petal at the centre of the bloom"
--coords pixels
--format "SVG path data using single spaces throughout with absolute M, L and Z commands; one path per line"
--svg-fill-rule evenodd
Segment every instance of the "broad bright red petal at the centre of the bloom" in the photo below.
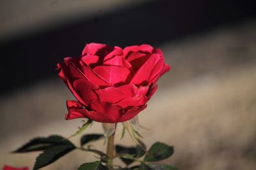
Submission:
M 131 77 L 131 72 L 129 69 L 127 69 L 127 67 L 97 66 L 93 69 L 93 71 L 112 85 L 125 83 L 129 81 Z

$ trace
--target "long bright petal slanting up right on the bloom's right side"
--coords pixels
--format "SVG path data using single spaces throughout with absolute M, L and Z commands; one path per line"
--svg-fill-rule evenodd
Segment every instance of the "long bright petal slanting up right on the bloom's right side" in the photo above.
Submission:
M 154 68 L 160 57 L 161 55 L 159 54 L 152 54 L 143 64 L 143 66 L 141 66 L 140 69 L 138 69 L 138 71 L 134 74 L 131 83 L 134 83 L 135 85 L 143 85 L 144 83 L 147 84 L 152 68 Z

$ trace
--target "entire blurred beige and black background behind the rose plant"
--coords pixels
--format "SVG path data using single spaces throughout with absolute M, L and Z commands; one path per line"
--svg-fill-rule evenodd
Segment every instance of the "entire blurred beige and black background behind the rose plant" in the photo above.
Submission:
M 172 66 L 140 122 L 143 141 L 175 147 L 180 169 L 256 169 L 256 10 L 253 1 L 1 0 L 0 167 L 33 167 L 38 153 L 10 151 L 35 136 L 69 136 L 74 99 L 55 71 L 86 43 L 148 43 Z M 128 135 L 116 143 L 133 145 Z M 102 132 L 98 123 L 86 132 Z M 79 143 L 79 137 L 72 138 Z M 104 150 L 103 141 L 95 143 Z M 74 151 L 42 169 L 76 169 Z M 116 162 L 118 163 L 118 161 Z

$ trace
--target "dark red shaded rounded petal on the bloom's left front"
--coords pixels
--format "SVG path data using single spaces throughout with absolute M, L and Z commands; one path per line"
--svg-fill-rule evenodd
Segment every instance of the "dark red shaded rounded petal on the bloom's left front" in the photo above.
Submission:
M 93 92 L 93 89 L 97 89 L 97 86 L 92 82 L 85 79 L 79 79 L 74 81 L 73 86 L 79 97 L 83 99 L 85 106 L 89 106 L 90 101 L 97 99 L 97 95 Z

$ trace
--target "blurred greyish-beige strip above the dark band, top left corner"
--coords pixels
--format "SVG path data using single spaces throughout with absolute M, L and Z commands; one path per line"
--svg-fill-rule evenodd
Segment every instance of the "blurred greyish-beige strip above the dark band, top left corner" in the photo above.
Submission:
M 127 8 L 143 1 L 145 0 L 1 0 L 0 39 L 3 41 L 45 31 L 63 23 L 104 15 L 108 11 Z

